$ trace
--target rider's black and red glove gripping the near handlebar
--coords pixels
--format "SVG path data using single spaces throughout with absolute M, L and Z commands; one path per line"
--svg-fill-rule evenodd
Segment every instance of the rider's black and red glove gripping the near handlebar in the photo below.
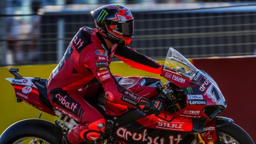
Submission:
M 163 110 L 164 102 L 162 99 L 152 100 L 141 98 L 139 101 L 139 109 L 145 113 L 159 115 Z

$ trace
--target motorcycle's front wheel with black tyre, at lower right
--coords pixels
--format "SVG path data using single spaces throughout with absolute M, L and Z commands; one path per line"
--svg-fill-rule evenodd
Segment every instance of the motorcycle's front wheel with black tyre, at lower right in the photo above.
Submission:
M 219 127 L 219 139 L 220 144 L 255 144 L 247 132 L 235 123 Z M 182 141 L 190 144 L 198 143 L 193 135 L 186 137 Z

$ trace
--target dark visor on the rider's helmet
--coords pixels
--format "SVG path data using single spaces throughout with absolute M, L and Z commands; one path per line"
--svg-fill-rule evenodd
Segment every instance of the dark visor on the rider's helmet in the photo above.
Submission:
M 108 26 L 115 33 L 120 35 L 133 35 L 133 21 Z

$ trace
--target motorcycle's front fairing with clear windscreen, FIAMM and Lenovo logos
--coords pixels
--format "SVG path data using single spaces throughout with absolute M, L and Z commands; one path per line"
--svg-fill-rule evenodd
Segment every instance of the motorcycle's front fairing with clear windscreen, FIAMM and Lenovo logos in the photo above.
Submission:
M 178 51 L 169 48 L 161 73 L 170 82 L 182 88 L 187 104 L 222 105 L 226 101 L 216 82 L 204 71 L 198 70 Z

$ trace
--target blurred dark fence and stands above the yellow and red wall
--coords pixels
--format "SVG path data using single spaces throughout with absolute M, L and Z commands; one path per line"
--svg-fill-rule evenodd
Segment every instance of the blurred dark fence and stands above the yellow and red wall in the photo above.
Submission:
M 0 66 L 59 63 L 79 28 L 95 27 L 90 11 L 106 4 L 131 10 L 130 47 L 155 60 L 169 47 L 186 58 L 256 53 L 256 2 L 250 0 L 5 0 Z

